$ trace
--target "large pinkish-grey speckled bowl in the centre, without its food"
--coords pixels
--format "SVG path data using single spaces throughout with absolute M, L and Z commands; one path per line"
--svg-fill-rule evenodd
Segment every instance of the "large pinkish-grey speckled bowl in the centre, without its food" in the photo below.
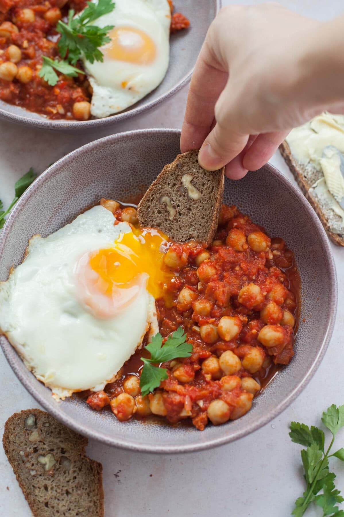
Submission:
M 179 153 L 180 132 L 130 131 L 107 136 L 73 151 L 46 170 L 22 196 L 0 237 L 0 280 L 22 261 L 32 235 L 49 235 L 97 204 L 100 197 L 126 201 L 142 193 Z M 14 349 L 0 338 L 13 371 L 52 415 L 70 428 L 109 445 L 149 452 L 186 452 L 232 442 L 260 428 L 303 390 L 329 344 L 336 315 L 337 284 L 323 227 L 301 192 L 271 165 L 225 182 L 225 202 L 237 204 L 272 236 L 295 252 L 302 281 L 302 312 L 295 356 L 239 420 L 205 431 L 137 420 L 121 423 L 111 413 L 92 411 L 77 399 L 55 402 L 51 391 L 29 373 Z M 133 316 L 134 317 L 134 316 Z M 303 321 L 304 320 L 304 321 Z

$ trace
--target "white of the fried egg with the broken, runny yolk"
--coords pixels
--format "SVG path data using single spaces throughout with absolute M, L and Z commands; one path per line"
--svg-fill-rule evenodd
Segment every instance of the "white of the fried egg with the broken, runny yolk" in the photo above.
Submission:
M 145 285 L 120 315 L 102 319 L 80 301 L 75 265 L 81 255 L 111 247 L 128 223 L 96 206 L 49 237 L 35 236 L 24 262 L 0 282 L 0 331 L 55 398 L 103 389 L 158 328 Z

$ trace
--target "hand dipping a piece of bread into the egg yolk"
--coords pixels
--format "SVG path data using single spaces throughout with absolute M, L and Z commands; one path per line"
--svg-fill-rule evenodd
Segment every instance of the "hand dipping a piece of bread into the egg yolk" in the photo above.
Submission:
M 192 76 L 182 153 L 201 147 L 200 165 L 226 165 L 239 179 L 293 127 L 324 109 L 344 111 L 342 34 L 343 19 L 319 22 L 275 3 L 222 9 Z

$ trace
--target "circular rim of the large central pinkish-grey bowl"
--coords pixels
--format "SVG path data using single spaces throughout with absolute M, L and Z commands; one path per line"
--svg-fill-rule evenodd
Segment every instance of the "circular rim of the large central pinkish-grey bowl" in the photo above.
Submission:
M 0 257 L 2 256 L 4 243 L 6 241 L 7 235 L 10 233 L 12 229 L 12 225 L 15 221 L 15 217 L 17 213 L 25 209 L 26 203 L 29 201 L 30 196 L 34 194 L 37 190 L 39 190 L 41 183 L 43 183 L 46 180 L 49 180 L 50 177 L 55 173 L 55 169 L 59 169 L 60 166 L 63 166 L 65 161 L 69 161 L 72 159 L 77 159 L 77 157 L 80 154 L 84 154 L 85 152 L 92 148 L 102 147 L 104 144 L 107 143 L 113 143 L 116 140 L 120 139 L 127 139 L 130 138 L 130 136 L 138 136 L 142 137 L 145 135 L 154 135 L 154 134 L 161 134 L 166 133 L 168 134 L 179 134 L 181 131 L 179 129 L 165 129 L 165 128 L 152 128 L 152 129 L 140 129 L 140 130 L 131 130 L 131 131 L 125 131 L 121 133 L 116 133 L 113 135 L 105 136 L 99 140 L 95 140 L 93 142 L 87 143 L 83 145 L 82 147 L 79 147 L 72 151 L 71 153 L 65 155 L 64 157 L 60 158 L 58 161 L 56 161 L 54 164 L 52 164 L 48 169 L 46 169 L 38 178 L 34 181 L 32 185 L 28 187 L 28 189 L 24 192 L 20 200 L 17 202 L 17 204 L 14 206 L 9 218 L 7 219 L 4 228 L 0 234 Z M 118 438 L 112 438 L 109 437 L 106 434 L 103 434 L 101 429 L 95 433 L 94 431 L 89 431 L 88 429 L 84 428 L 81 424 L 79 424 L 77 421 L 75 421 L 73 418 L 61 414 L 58 410 L 58 407 L 55 405 L 55 401 L 53 398 L 45 400 L 40 393 L 36 390 L 33 383 L 30 382 L 30 377 L 25 377 L 21 372 L 21 363 L 22 360 L 20 359 L 20 363 L 13 362 L 11 358 L 9 357 L 9 354 L 7 353 L 5 347 L 3 346 L 2 349 L 5 354 L 5 357 L 7 361 L 10 364 L 10 367 L 12 368 L 15 375 L 18 377 L 19 381 L 22 383 L 22 385 L 27 389 L 27 391 L 36 399 L 36 401 L 41 404 L 41 406 L 46 409 L 51 415 L 53 415 L 57 420 L 61 421 L 67 427 L 73 429 L 75 432 L 80 433 L 84 436 L 87 436 L 91 439 L 96 439 L 99 442 L 102 442 L 106 445 L 110 445 L 113 447 L 118 447 L 121 449 L 126 450 L 132 450 L 132 451 L 139 451 L 139 452 L 149 452 L 149 453 L 181 453 L 181 452 L 195 452 L 195 451 L 201 451 L 205 449 L 210 449 L 212 447 L 217 447 L 220 445 L 228 444 L 230 442 L 234 442 L 235 440 L 242 438 L 248 434 L 251 434 L 252 432 L 260 429 L 263 427 L 263 425 L 269 423 L 271 420 L 276 418 L 280 413 L 282 413 L 294 400 L 296 397 L 299 396 L 299 394 L 303 391 L 303 389 L 307 386 L 312 376 L 317 371 L 324 354 L 326 352 L 327 347 L 329 346 L 333 328 L 335 324 L 335 318 L 336 318 L 336 312 L 337 312 L 337 276 L 336 276 L 336 267 L 334 262 L 334 257 L 330 245 L 330 241 L 327 238 L 327 235 L 325 233 L 325 230 L 316 215 L 316 212 L 311 207 L 310 203 L 306 199 L 306 197 L 303 195 L 301 190 L 296 188 L 291 181 L 284 176 L 278 169 L 276 169 L 273 165 L 271 165 L 269 162 L 265 164 L 265 167 L 268 169 L 268 171 L 277 176 L 283 183 L 285 187 L 290 189 L 293 194 L 298 198 L 298 200 L 304 205 L 306 211 L 308 212 L 308 215 L 312 219 L 312 221 L 315 223 L 317 230 L 319 232 L 322 245 L 324 247 L 324 251 L 328 260 L 329 264 L 329 277 L 328 282 L 330 286 L 330 293 L 331 293 L 331 307 L 330 307 L 330 317 L 329 317 L 329 323 L 327 325 L 325 337 L 320 345 L 318 354 L 316 358 L 314 359 L 313 363 L 311 364 L 309 370 L 305 373 L 305 376 L 303 379 L 298 382 L 298 384 L 295 386 L 295 388 L 292 390 L 292 392 L 289 394 L 289 396 L 283 400 L 280 404 L 278 404 L 275 407 L 272 407 L 268 412 L 264 413 L 263 415 L 259 416 L 254 423 L 249 424 L 245 429 L 238 430 L 230 435 L 228 433 L 224 432 L 224 435 L 220 438 L 214 438 L 214 439 L 208 439 L 206 442 L 197 443 L 197 441 L 190 445 L 174 445 L 174 446 L 154 446 L 149 445 L 145 443 L 132 443 L 130 439 L 127 439 L 125 434 L 123 434 L 123 437 Z M 19 356 L 18 356 L 19 357 Z

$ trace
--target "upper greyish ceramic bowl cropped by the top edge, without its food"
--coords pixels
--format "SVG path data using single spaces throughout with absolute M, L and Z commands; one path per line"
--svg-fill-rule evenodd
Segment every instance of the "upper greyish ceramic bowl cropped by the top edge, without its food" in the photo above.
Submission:
M 221 0 L 176 0 L 175 11 L 182 11 L 190 20 L 190 28 L 170 36 L 170 61 L 161 84 L 146 97 L 122 113 L 106 118 L 86 121 L 50 120 L 18 106 L 0 100 L 0 119 L 17 124 L 56 131 L 95 130 L 113 126 L 128 118 L 142 114 L 173 96 L 190 80 L 197 56 L 207 30 L 221 7 Z

